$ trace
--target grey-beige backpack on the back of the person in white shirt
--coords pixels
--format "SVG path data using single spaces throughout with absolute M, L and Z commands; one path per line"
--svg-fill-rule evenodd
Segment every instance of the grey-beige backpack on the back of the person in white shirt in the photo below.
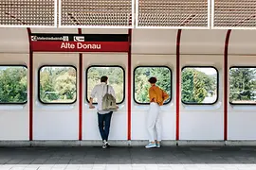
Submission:
M 102 110 L 117 110 L 116 106 L 116 98 L 112 94 L 108 93 L 107 85 L 107 91 L 102 98 Z

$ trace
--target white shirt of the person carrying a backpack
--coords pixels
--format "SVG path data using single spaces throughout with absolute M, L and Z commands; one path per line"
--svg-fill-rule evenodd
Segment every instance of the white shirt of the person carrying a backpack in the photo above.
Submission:
M 98 106 L 97 110 L 100 114 L 108 113 L 109 111 L 102 110 L 102 99 L 103 96 L 106 94 L 107 91 L 107 85 L 104 82 L 101 82 L 101 84 L 96 85 L 91 93 L 91 98 L 97 98 Z M 108 85 L 108 93 L 112 94 L 116 98 L 116 94 L 114 91 L 114 88 L 110 85 Z

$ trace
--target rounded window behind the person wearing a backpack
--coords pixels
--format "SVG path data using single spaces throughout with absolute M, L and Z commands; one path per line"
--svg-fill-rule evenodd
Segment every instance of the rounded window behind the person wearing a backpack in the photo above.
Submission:
M 120 104 L 124 100 L 124 69 L 120 66 L 97 66 L 93 65 L 87 69 L 87 91 L 86 100 L 89 102 L 90 94 L 95 85 L 101 83 L 101 76 L 108 76 L 108 84 L 110 84 L 116 93 L 117 104 Z M 97 99 L 94 98 L 93 103 L 97 103 Z

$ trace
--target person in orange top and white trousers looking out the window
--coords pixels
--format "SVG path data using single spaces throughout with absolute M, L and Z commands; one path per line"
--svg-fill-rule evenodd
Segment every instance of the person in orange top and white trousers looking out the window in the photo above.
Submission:
M 147 115 L 147 127 L 149 132 L 149 141 L 146 148 L 160 147 L 161 142 L 161 118 L 160 118 L 160 106 L 163 105 L 164 101 L 169 98 L 168 93 L 155 85 L 156 78 L 151 77 L 148 80 L 151 84 L 149 89 L 150 97 L 150 109 Z M 156 143 L 155 143 L 155 130 L 156 130 Z

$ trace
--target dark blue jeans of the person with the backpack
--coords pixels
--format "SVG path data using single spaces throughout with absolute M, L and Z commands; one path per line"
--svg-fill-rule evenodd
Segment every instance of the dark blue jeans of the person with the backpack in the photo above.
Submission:
M 98 113 L 98 125 L 99 125 L 99 129 L 100 129 L 102 141 L 103 140 L 107 141 L 107 139 L 108 139 L 112 113 L 113 113 L 113 111 L 110 111 L 109 113 L 106 113 L 106 114 Z

